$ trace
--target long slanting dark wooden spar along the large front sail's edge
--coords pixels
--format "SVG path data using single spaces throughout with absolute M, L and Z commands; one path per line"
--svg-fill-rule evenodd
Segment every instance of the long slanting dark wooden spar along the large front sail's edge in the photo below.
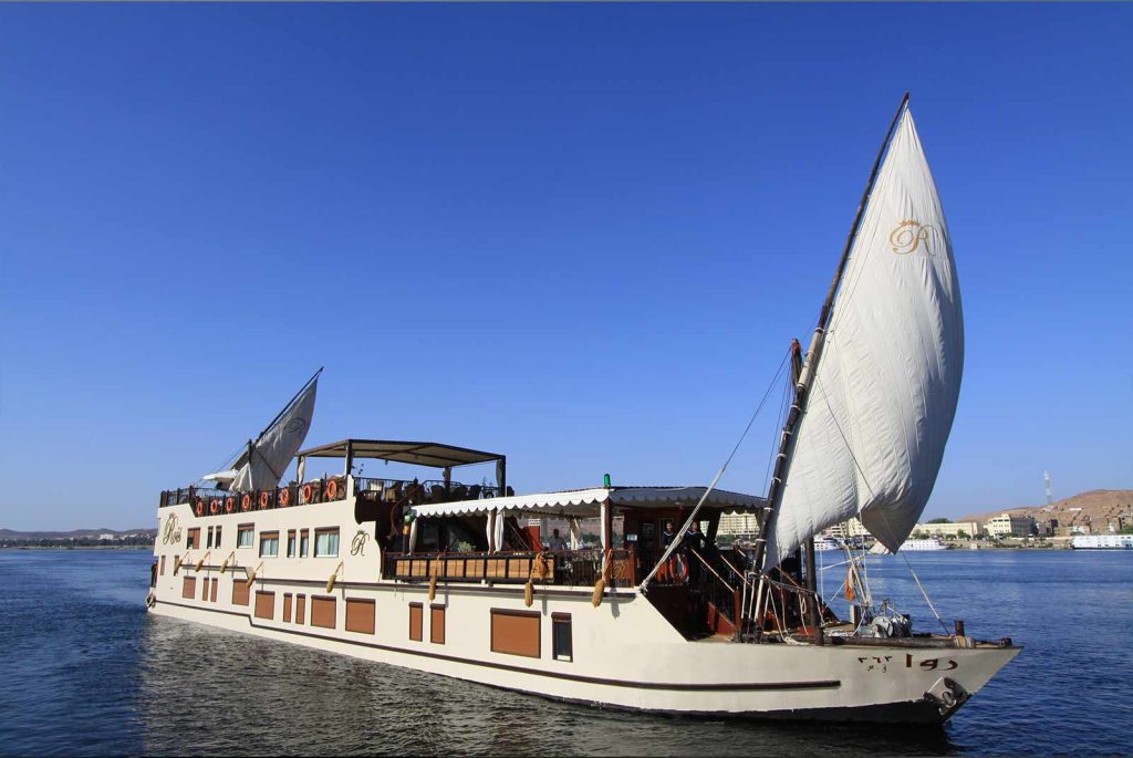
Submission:
M 794 452 L 795 432 L 799 429 L 802 416 L 807 412 L 807 403 L 810 400 L 810 383 L 815 376 L 815 372 L 818 369 L 818 361 L 823 355 L 823 346 L 826 342 L 826 329 L 829 326 L 830 313 L 834 308 L 834 298 L 837 295 L 838 284 L 842 282 L 842 274 L 845 272 L 846 263 L 850 261 L 850 249 L 853 247 L 853 240 L 858 236 L 859 227 L 861 227 L 861 219 L 866 213 L 866 206 L 869 204 L 869 196 L 874 191 L 874 184 L 877 180 L 877 170 L 881 165 L 881 157 L 885 155 L 885 150 L 889 145 L 893 131 L 897 128 L 897 121 L 901 119 L 901 114 L 908 104 L 909 93 L 905 92 L 904 97 L 901 99 L 901 104 L 897 107 L 897 112 L 893 117 L 893 122 L 889 124 L 889 130 L 885 134 L 885 140 L 881 142 L 881 148 L 877 152 L 877 160 L 874 161 L 874 170 L 869 173 L 869 181 L 866 182 L 866 190 L 862 193 L 861 202 L 858 204 L 858 213 L 854 215 L 853 224 L 850 227 L 850 233 L 846 237 L 842 257 L 838 259 L 838 267 L 834 272 L 834 281 L 830 282 L 830 290 L 826 293 L 826 300 L 823 303 L 823 309 L 818 315 L 818 324 L 815 326 L 815 334 L 810 340 L 802 372 L 794 385 L 794 402 L 787 414 L 786 421 L 783 424 L 778 454 L 775 458 L 775 472 L 772 476 L 770 487 L 767 493 L 767 508 L 759 516 L 759 537 L 756 539 L 753 565 L 760 572 L 764 571 L 764 561 L 767 557 L 767 529 L 778 516 L 778 508 L 783 502 L 783 487 L 786 484 L 791 458 Z M 764 628 L 763 588 L 764 581 L 760 580 L 756 603 L 757 639 L 761 636 Z

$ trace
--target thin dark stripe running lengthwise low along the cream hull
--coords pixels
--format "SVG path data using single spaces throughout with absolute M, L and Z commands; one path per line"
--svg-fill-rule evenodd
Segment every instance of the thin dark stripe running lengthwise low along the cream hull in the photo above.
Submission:
M 842 682 L 836 679 L 819 680 L 812 682 L 729 682 L 722 684 L 685 684 L 680 682 L 631 682 L 621 679 L 603 679 L 600 676 L 565 674 L 556 671 L 539 671 L 538 668 L 528 668 L 526 666 L 512 666 L 505 663 L 494 663 L 491 661 L 475 661 L 472 658 L 461 658 L 454 655 L 426 653 L 424 650 L 411 650 L 407 648 L 393 647 L 391 645 L 380 645 L 377 642 L 363 642 L 361 640 L 341 639 L 339 637 L 298 631 L 296 629 L 269 627 L 266 624 L 257 624 L 255 621 L 253 621 L 250 615 L 248 615 L 247 613 L 239 613 L 238 611 L 224 611 L 221 608 L 202 608 L 195 605 L 187 605 L 185 603 L 173 603 L 172 601 L 156 601 L 154 605 L 172 605 L 179 608 L 187 608 L 189 611 L 204 611 L 207 613 L 221 613 L 229 616 L 237 616 L 239 619 L 244 619 L 245 621 L 247 621 L 248 625 L 250 625 L 254 629 L 282 632 L 286 634 L 297 634 L 299 637 L 310 637 L 313 639 L 322 639 L 330 642 L 356 645 L 358 647 L 368 647 L 375 650 L 386 650 L 389 653 L 404 653 L 406 655 L 418 655 L 426 658 L 437 658 L 440 661 L 448 661 L 450 663 L 465 663 L 472 666 L 500 668 L 502 671 L 512 671 L 520 674 L 534 674 L 536 676 L 548 676 L 551 679 L 564 679 L 568 681 L 582 682 L 586 684 L 605 684 L 607 687 L 631 687 L 633 689 L 639 689 L 639 690 L 675 690 L 682 692 L 824 690 L 824 689 L 836 689 L 838 687 L 842 687 Z

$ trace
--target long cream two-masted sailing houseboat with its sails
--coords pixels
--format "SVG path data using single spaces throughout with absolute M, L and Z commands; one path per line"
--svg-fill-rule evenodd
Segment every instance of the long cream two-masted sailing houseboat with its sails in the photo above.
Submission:
M 726 462 L 708 486 L 516 494 L 499 453 L 358 438 L 300 450 L 316 374 L 230 468 L 161 493 L 150 612 L 604 707 L 943 722 L 1021 648 L 959 621 L 914 631 L 877 607 L 864 556 L 844 545 L 850 619 L 816 591 L 824 528 L 857 517 L 900 548 L 959 397 L 960 290 L 908 94 L 809 348 L 789 355 L 766 496 L 716 488 Z M 335 458 L 341 474 L 306 477 Z M 423 468 L 367 478 L 370 459 Z M 494 465 L 492 484 L 453 479 L 476 465 Z M 735 512 L 757 539 L 717 547 Z M 693 523 L 701 534 L 681 536 Z

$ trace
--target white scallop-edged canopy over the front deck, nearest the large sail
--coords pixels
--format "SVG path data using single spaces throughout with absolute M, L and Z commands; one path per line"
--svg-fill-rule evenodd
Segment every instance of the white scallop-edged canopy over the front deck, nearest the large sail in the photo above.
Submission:
M 487 497 L 455 503 L 415 505 L 418 517 L 461 516 L 505 511 L 509 514 L 536 513 L 539 516 L 595 516 L 602 503 L 630 508 L 692 508 L 707 487 L 594 487 L 540 492 L 531 495 Z M 713 489 L 705 500 L 705 508 L 725 511 L 747 511 L 764 508 L 767 500 L 726 489 Z

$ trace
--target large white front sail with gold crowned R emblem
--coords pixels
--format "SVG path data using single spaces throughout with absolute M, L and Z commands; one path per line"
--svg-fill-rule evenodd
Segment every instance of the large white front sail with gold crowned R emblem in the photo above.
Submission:
M 767 565 L 853 516 L 901 546 L 936 483 L 963 363 L 952 241 L 905 110 L 842 278 Z

